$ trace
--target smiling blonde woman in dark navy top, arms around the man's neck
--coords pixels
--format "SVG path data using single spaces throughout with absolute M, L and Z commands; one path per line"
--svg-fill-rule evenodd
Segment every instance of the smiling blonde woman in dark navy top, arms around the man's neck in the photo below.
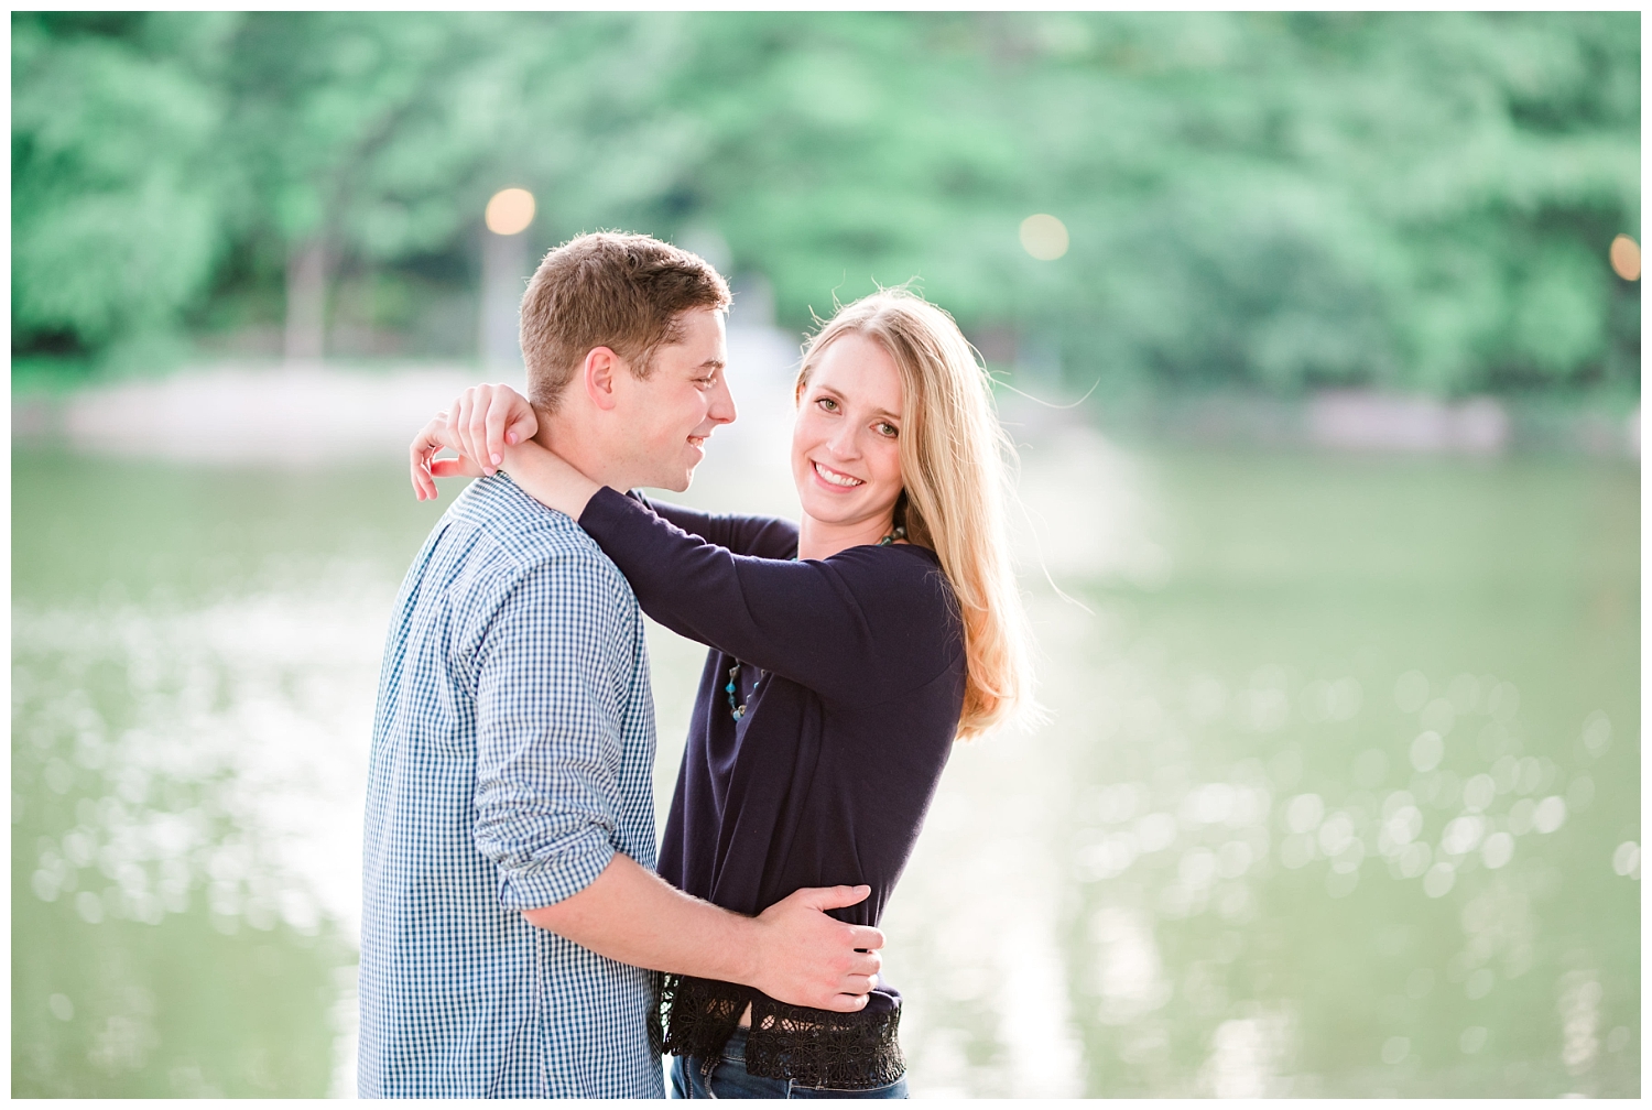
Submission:
M 476 387 L 415 441 L 415 487 L 439 446 L 486 451 L 567 512 L 643 610 L 710 648 L 659 874 L 757 913 L 803 885 L 869 884 L 838 917 L 874 925 L 955 738 L 1029 705 L 1024 618 L 1003 520 L 1008 446 L 952 317 L 902 289 L 833 317 L 806 345 L 791 471 L 801 525 L 710 515 L 598 487 L 532 443 L 527 401 Z M 659 980 L 677 1097 L 905 1097 L 900 996 L 841 1014 L 750 988 Z

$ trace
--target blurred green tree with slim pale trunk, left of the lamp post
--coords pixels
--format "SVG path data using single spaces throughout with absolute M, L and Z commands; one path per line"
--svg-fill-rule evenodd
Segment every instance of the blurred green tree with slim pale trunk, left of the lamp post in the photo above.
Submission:
M 489 17 L 248 15 L 230 43 L 225 145 L 238 238 L 281 259 L 284 352 L 324 352 L 327 289 L 352 259 L 439 249 L 497 145 Z M 509 41 L 509 40 L 504 40 Z

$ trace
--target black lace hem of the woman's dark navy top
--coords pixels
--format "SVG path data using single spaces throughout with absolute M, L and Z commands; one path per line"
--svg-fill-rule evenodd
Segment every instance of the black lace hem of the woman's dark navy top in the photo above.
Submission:
M 735 983 L 654 975 L 649 1039 L 656 1052 L 717 1059 L 747 1003 L 752 1032 L 745 1039 L 745 1070 L 765 1079 L 790 1079 L 803 1087 L 866 1090 L 887 1087 L 907 1074 L 895 1029 L 900 1008 L 871 1014 L 839 1014 L 776 1003 Z

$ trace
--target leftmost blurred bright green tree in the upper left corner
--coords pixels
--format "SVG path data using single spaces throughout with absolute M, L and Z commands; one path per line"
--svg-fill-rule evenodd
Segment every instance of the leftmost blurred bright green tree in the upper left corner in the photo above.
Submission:
M 218 15 L 13 13 L 12 344 L 142 349 L 228 246 Z

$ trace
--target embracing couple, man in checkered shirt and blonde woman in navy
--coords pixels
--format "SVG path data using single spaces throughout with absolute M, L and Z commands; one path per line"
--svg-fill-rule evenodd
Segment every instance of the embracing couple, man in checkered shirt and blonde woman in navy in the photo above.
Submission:
M 577 238 L 522 301 L 527 398 L 413 441 L 420 497 L 477 481 L 385 649 L 363 1097 L 661 1097 L 662 1052 L 674 1097 L 905 1097 L 877 922 L 952 743 L 1029 704 L 1003 433 L 952 317 L 884 291 L 805 347 L 801 522 L 629 492 L 735 418 L 727 307 L 687 251 Z M 641 613 L 710 649 L 657 856 Z

